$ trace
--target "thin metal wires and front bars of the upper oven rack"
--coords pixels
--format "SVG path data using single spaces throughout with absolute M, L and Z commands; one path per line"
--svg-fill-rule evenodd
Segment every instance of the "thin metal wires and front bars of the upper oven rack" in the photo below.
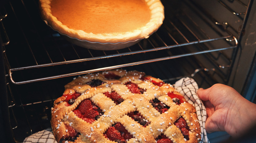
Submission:
M 219 2 L 222 3 L 221 1 L 219 1 Z M 32 47 L 32 44 L 30 43 L 30 39 L 28 39 L 30 36 L 26 35 L 26 31 L 25 31 L 26 29 L 21 30 L 21 32 L 23 33 L 22 35 L 25 38 L 25 42 L 26 42 L 25 44 L 28 47 L 27 52 L 31 53 L 31 55 L 32 55 L 31 59 L 33 59 L 33 62 L 30 61 L 29 63 L 31 63 L 31 64 L 29 66 L 20 66 L 20 65 L 22 65 L 22 63 L 19 66 L 17 66 L 17 64 L 15 65 L 15 64 L 12 64 L 12 63 L 11 64 L 8 63 L 8 69 L 9 69 L 8 72 L 9 72 L 9 75 L 10 75 L 10 78 L 11 78 L 11 82 L 14 83 L 14 84 L 24 84 L 24 83 L 30 83 L 30 82 L 35 82 L 35 81 L 42 81 L 42 80 L 48 80 L 48 79 L 54 79 L 54 78 L 60 78 L 60 77 L 79 75 L 79 74 L 84 74 L 84 73 L 89 73 L 89 72 L 94 72 L 94 71 L 102 71 L 102 70 L 107 70 L 107 69 L 114 69 L 114 68 L 121 68 L 121 67 L 126 67 L 126 66 L 144 64 L 144 63 L 148 63 L 148 62 L 155 62 L 155 61 L 172 59 L 172 58 L 177 58 L 177 57 L 182 57 L 182 56 L 191 56 L 191 55 L 196 55 L 196 54 L 209 53 L 209 52 L 214 52 L 214 51 L 221 51 L 221 50 L 236 48 L 237 44 L 238 44 L 237 43 L 237 38 L 236 38 L 236 37 L 239 37 L 239 32 L 238 31 L 237 31 L 237 34 L 236 34 L 236 37 L 235 37 L 233 35 L 229 35 L 231 32 L 228 32 L 229 30 L 226 29 L 225 33 L 228 33 L 228 34 L 226 34 L 226 36 L 224 36 L 221 32 L 219 32 L 218 29 L 216 29 L 216 27 L 214 27 L 211 24 L 210 27 L 213 28 L 215 30 L 215 32 L 217 32 L 219 37 L 218 38 L 210 38 L 210 36 L 197 24 L 196 21 L 193 20 L 193 18 L 191 18 L 189 15 L 187 15 L 183 11 L 180 11 L 181 14 L 184 14 L 186 19 L 190 20 L 190 23 L 193 24 L 194 27 L 196 27 L 196 30 L 203 33 L 203 37 L 206 37 L 206 38 L 204 38 L 204 39 L 199 38 L 197 36 L 197 34 L 194 32 L 194 30 L 190 28 L 189 25 L 187 25 L 185 22 L 181 21 L 181 24 L 183 24 L 182 27 L 185 27 L 187 29 L 186 31 L 189 31 L 194 36 L 194 38 L 193 38 L 194 40 L 189 40 L 187 38 L 187 36 L 184 33 L 182 33 L 182 31 L 184 31 L 184 30 L 179 29 L 179 27 L 172 22 L 172 19 L 169 19 L 169 17 L 167 16 L 166 20 L 165 20 L 165 23 L 163 24 L 163 26 L 161 28 L 163 28 L 165 31 L 167 31 L 166 35 L 169 36 L 169 40 L 173 41 L 171 45 L 166 43 L 166 40 L 164 40 L 164 38 L 161 36 L 161 33 L 156 32 L 154 34 L 154 36 L 159 39 L 158 42 L 160 41 L 161 44 L 156 45 L 156 44 L 154 44 L 154 41 L 152 41 L 152 39 L 150 39 L 150 40 L 147 39 L 146 42 L 148 43 L 147 45 L 149 45 L 148 47 L 143 46 L 142 42 L 139 42 L 138 45 L 136 45 L 136 48 L 128 47 L 125 52 L 122 52 L 122 50 L 116 50 L 116 51 L 112 51 L 111 54 L 107 54 L 109 51 L 100 51 L 100 52 L 97 51 L 96 55 L 94 55 L 96 53 L 96 51 L 94 51 L 94 50 L 83 49 L 83 52 L 87 52 L 87 54 L 88 54 L 88 56 L 86 58 L 83 58 L 83 57 L 80 57 L 80 55 L 79 55 L 79 53 L 81 52 L 80 51 L 81 49 L 77 48 L 77 46 L 75 46 L 75 45 L 67 43 L 67 45 L 69 47 L 69 50 L 72 50 L 73 53 L 75 53 L 75 56 L 76 56 L 75 59 L 69 60 L 70 57 L 67 57 L 63 53 L 63 49 L 62 49 L 63 47 L 61 47 L 63 45 L 59 45 L 58 43 L 55 42 L 55 41 L 58 41 L 58 40 L 62 41 L 63 39 L 61 37 L 59 37 L 58 33 L 49 29 L 49 27 L 44 27 L 44 28 L 46 28 L 46 30 L 48 30 L 48 32 L 51 32 L 52 37 L 50 37 L 50 38 L 52 38 L 54 40 L 53 44 L 56 45 L 54 52 L 58 53 L 58 55 L 60 55 L 60 57 L 61 57 L 61 59 L 58 59 L 59 62 L 55 62 L 56 60 L 53 58 L 52 53 L 50 53 L 51 50 L 49 50 L 49 48 L 47 48 L 47 45 L 46 45 L 47 44 L 46 42 L 48 42 L 47 40 L 49 40 L 49 39 L 46 39 L 46 41 L 44 41 L 43 37 L 40 35 L 40 32 L 42 32 L 42 31 L 38 31 L 38 27 L 35 24 L 35 23 L 38 23 L 38 22 L 34 22 L 34 20 L 33 20 L 34 17 L 30 16 L 31 11 L 28 10 L 28 7 L 29 7 L 29 6 L 27 6 L 28 2 L 25 2 L 25 1 L 21 0 L 21 3 L 22 3 L 22 6 L 25 9 L 24 13 L 26 15 L 28 15 L 27 18 L 29 19 L 30 23 L 32 24 L 31 27 L 34 28 L 34 30 L 35 30 L 35 32 L 33 34 L 38 37 L 38 39 L 39 39 L 38 42 L 42 45 L 42 48 L 41 48 L 40 52 L 45 53 L 44 55 L 45 55 L 45 58 L 47 58 L 47 59 L 45 59 L 43 62 L 37 60 L 38 57 L 35 56 L 35 55 L 37 55 L 37 53 L 35 53 L 34 48 L 38 48 L 38 47 Z M 163 3 L 167 3 L 167 2 L 163 1 Z M 33 1 L 33 4 L 34 4 L 33 7 L 37 7 L 37 2 L 36 1 Z M 186 4 L 187 5 L 192 5 L 191 2 L 187 2 Z M 15 9 L 15 7 L 13 6 L 12 3 L 10 3 L 10 7 L 12 9 L 13 15 L 17 19 L 16 21 L 17 21 L 19 27 L 21 29 L 23 29 L 22 24 L 19 21 L 18 16 L 17 16 L 17 10 Z M 168 8 L 166 8 L 166 9 L 168 9 Z M 228 8 L 228 9 L 231 9 L 231 8 Z M 196 11 L 196 10 L 193 10 L 193 11 Z M 172 12 L 172 11 L 167 10 L 167 12 L 169 13 L 169 12 Z M 236 12 L 234 12 L 234 13 L 236 13 Z M 238 16 L 241 16 L 244 13 L 246 13 L 246 12 L 243 12 L 243 13 L 239 14 Z M 170 14 L 170 15 L 172 15 L 172 14 Z M 173 14 L 173 15 L 175 15 L 175 14 Z M 205 20 L 203 18 L 203 16 L 201 16 L 201 19 L 203 19 L 205 22 L 207 22 L 207 20 Z M 40 19 L 37 19 L 37 20 L 40 21 Z M 210 18 L 210 20 L 211 20 L 211 22 L 214 22 L 213 24 L 215 24 L 215 25 L 220 24 L 219 22 L 216 22 L 216 20 L 213 19 L 213 18 Z M 170 25 L 171 25 L 171 28 L 170 28 Z M 229 27 L 231 27 L 231 26 L 229 26 Z M 177 39 L 174 38 L 172 36 L 172 34 L 170 34 L 170 32 L 171 32 L 170 30 L 172 30 L 172 29 L 175 29 L 180 34 L 182 39 L 184 39 L 184 41 L 181 41 L 181 42 L 177 41 Z M 234 29 L 234 28 L 232 28 L 232 29 Z M 219 48 L 219 49 L 217 49 L 217 48 L 212 49 L 211 47 L 208 47 L 205 50 L 201 50 L 201 51 L 198 51 L 198 52 L 190 52 L 190 53 L 174 55 L 174 56 L 165 56 L 165 57 L 160 57 L 160 58 L 155 58 L 155 59 L 149 59 L 149 60 L 136 61 L 136 62 L 132 62 L 132 63 L 120 64 L 120 65 L 115 65 L 115 66 L 110 66 L 110 67 L 101 67 L 101 68 L 90 69 L 90 70 L 85 70 L 85 71 L 75 71 L 75 72 L 64 73 L 64 74 L 60 74 L 60 75 L 50 75 L 50 76 L 40 77 L 40 78 L 35 78 L 35 79 L 29 79 L 29 77 L 28 77 L 28 79 L 25 79 L 24 81 L 15 81 L 14 78 L 13 78 L 13 74 L 15 74 L 14 72 L 17 72 L 17 71 L 25 72 L 28 69 L 37 69 L 37 68 L 43 68 L 43 67 L 49 67 L 49 66 L 58 66 L 58 65 L 72 64 L 72 63 L 77 63 L 77 62 L 85 62 L 85 61 L 87 62 L 87 61 L 98 60 L 98 59 L 109 59 L 109 58 L 112 58 L 112 57 L 141 54 L 141 53 L 160 51 L 160 50 L 166 50 L 166 49 L 170 50 L 170 49 L 175 48 L 175 47 L 183 47 L 183 46 L 195 45 L 195 44 L 200 44 L 200 43 L 207 43 L 207 42 L 217 41 L 217 40 L 226 40 L 227 42 L 230 42 L 230 46 Z M 235 42 L 232 42 L 232 41 L 235 41 Z M 143 42 L 145 42 L 145 40 Z M 159 47 L 158 45 L 162 45 L 162 46 Z M 19 48 L 21 48 L 21 47 L 19 47 Z M 100 53 L 100 54 L 98 54 L 98 53 Z M 97 55 L 99 55 L 99 56 L 97 56 Z M 10 58 L 11 57 L 6 56 L 6 59 L 7 59 L 8 62 L 9 62 Z M 26 62 L 24 62 L 24 63 L 26 63 Z M 15 66 L 17 68 L 15 68 Z

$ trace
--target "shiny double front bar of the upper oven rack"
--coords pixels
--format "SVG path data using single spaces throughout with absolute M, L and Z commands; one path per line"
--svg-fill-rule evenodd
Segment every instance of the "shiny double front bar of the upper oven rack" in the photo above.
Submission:
M 223 37 L 223 38 L 220 38 L 220 39 L 227 39 L 227 38 L 230 38 L 230 36 Z M 236 40 L 236 39 L 233 38 L 233 40 Z M 208 40 L 203 40 L 203 41 L 208 41 Z M 88 59 L 79 59 L 79 60 L 71 60 L 71 61 L 56 62 L 56 63 L 50 63 L 50 64 L 42 64 L 42 65 L 35 65 L 35 66 L 29 66 L 29 67 L 15 68 L 15 69 L 10 69 L 9 70 L 9 75 L 10 75 L 10 79 L 11 79 L 12 83 L 14 83 L 14 84 L 25 84 L 25 83 L 31 83 L 31 82 L 36 82 L 36 81 L 43 81 L 43 80 L 49 80 L 49 79 L 55 79 L 55 78 L 62 78 L 62 77 L 68 77 L 68 76 L 74 76 L 74 75 L 81 75 L 81 74 L 97 72 L 97 71 L 104 71 L 104 70 L 110 70 L 110 69 L 123 68 L 123 67 L 127 67 L 127 66 L 140 65 L 140 64 L 156 62 L 156 61 L 161 61 L 161 60 L 168 60 L 168 59 L 173 59 L 173 58 L 178 58 L 178 57 L 183 57 L 183 56 L 191 56 L 191 55 L 197 55 L 197 54 L 203 54 L 203 53 L 209 53 L 209 52 L 215 52 L 215 51 L 221 51 L 221 50 L 228 50 L 228 49 L 233 49 L 233 48 L 237 47 L 237 44 L 236 44 L 236 45 L 231 46 L 231 47 L 225 47 L 225 48 L 220 48 L 220 49 L 204 50 L 204 51 L 198 51 L 198 52 L 181 54 L 181 55 L 175 55 L 175 56 L 166 56 L 166 57 L 155 58 L 155 59 L 150 59 L 150 60 L 137 61 L 137 62 L 126 63 L 126 64 L 121 64 L 121 65 L 115 65 L 115 66 L 103 67 L 103 68 L 98 68 L 98 69 L 92 69 L 92 70 L 87 70 L 87 71 L 79 71 L 79 72 L 73 72 L 73 73 L 67 73 L 67 74 L 60 74 L 60 75 L 55 75 L 55 76 L 50 76 L 50 77 L 43 77 L 43 78 L 32 79 L 32 80 L 27 80 L 27 81 L 20 81 L 20 82 L 15 82 L 13 80 L 13 78 L 12 78 L 12 72 L 13 71 L 26 70 L 26 69 L 31 69 L 31 68 L 42 68 L 42 67 L 46 67 L 46 66 L 63 65 L 63 64 L 69 64 L 69 63 L 75 63 L 75 62 L 84 62 L 84 61 L 96 60 L 96 59 L 105 59 L 105 58 L 115 57 L 115 56 L 132 55 L 132 54 L 144 53 L 145 51 L 157 51 L 157 50 L 168 49 L 168 48 L 172 48 L 172 47 L 179 47 L 181 45 L 200 43 L 200 42 L 203 42 L 203 41 L 196 41 L 196 42 L 185 43 L 185 44 L 180 44 L 180 45 L 160 47 L 160 48 L 154 48 L 154 49 L 149 49 L 149 50 L 134 51 L 134 52 L 128 52 L 128 53 L 122 53 L 122 54 L 114 54 L 114 55 L 108 55 L 108 56 L 99 56 L 99 57 L 88 58 Z

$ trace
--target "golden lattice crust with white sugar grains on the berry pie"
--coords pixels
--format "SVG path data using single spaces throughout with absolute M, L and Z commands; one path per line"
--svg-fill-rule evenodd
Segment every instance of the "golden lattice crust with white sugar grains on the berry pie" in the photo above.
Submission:
M 114 73 L 121 78 L 106 79 L 104 75 L 108 73 Z M 187 102 L 177 105 L 169 96 L 166 96 L 168 92 L 181 95 L 172 85 L 162 82 L 163 85 L 159 87 L 150 82 L 150 80 L 141 80 L 141 77 L 147 77 L 154 81 L 162 82 L 160 79 L 145 76 L 144 72 L 127 72 L 117 69 L 79 76 L 65 85 L 64 94 L 78 92 L 81 93 L 81 96 L 70 106 L 66 106 L 66 97 L 63 96 L 54 101 L 51 125 L 56 140 L 59 142 L 61 137 L 67 134 L 64 125 L 64 123 L 66 123 L 80 133 L 74 143 L 115 143 L 114 141 L 108 140 L 103 133 L 113 124 L 119 122 L 129 133 L 133 133 L 133 138 L 129 139 L 127 143 L 155 143 L 155 139 L 162 133 L 171 139 L 173 143 L 199 142 L 201 140 L 201 128 L 194 106 Z M 104 84 L 97 87 L 91 87 L 86 84 L 93 79 L 99 79 L 104 82 Z M 143 94 L 134 94 L 124 85 L 124 83 L 127 82 L 135 83 L 139 88 L 146 89 L 146 91 Z M 117 105 L 103 94 L 111 91 L 117 92 L 124 101 Z M 149 103 L 150 100 L 155 98 L 170 108 L 160 114 L 160 112 Z M 76 117 L 73 110 L 75 110 L 78 104 L 84 99 L 90 99 L 101 110 L 105 111 L 104 115 L 100 116 L 99 119 L 92 123 L 88 123 Z M 142 127 L 137 121 L 127 116 L 127 113 L 134 111 L 139 111 L 150 124 L 146 127 Z M 111 116 L 108 116 L 110 113 Z M 174 125 L 174 122 L 180 117 L 185 119 L 189 127 L 189 140 L 187 141 L 184 139 L 179 128 Z

